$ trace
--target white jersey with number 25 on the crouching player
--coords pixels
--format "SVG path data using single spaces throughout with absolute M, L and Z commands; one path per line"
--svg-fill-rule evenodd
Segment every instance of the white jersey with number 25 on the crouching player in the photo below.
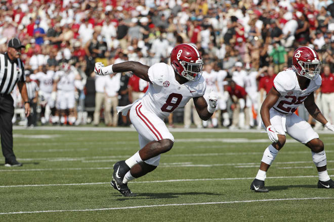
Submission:
M 284 70 L 275 77 L 274 87 L 281 94 L 273 106 L 282 113 L 294 113 L 298 106 L 304 102 L 308 95 L 321 86 L 321 77 L 311 80 L 308 87 L 302 90 L 299 86 L 294 69 Z

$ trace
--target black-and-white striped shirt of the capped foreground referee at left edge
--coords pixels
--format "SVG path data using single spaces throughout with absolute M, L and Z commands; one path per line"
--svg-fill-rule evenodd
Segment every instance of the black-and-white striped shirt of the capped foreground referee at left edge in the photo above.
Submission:
M 0 94 L 10 94 L 17 82 L 25 82 L 23 62 L 11 61 L 7 52 L 0 54 Z

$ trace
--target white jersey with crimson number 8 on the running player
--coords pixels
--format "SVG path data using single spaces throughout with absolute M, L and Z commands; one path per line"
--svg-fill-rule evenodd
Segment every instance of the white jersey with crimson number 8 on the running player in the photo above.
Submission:
M 175 79 L 172 66 L 157 63 L 148 70 L 152 84 L 142 98 L 145 108 L 159 118 L 168 117 L 177 107 L 183 107 L 193 97 L 203 96 L 206 84 L 204 78 L 180 84 Z

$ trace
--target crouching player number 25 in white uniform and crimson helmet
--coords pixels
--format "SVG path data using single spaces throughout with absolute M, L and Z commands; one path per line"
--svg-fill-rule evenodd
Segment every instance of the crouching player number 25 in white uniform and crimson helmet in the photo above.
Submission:
M 266 172 L 285 143 L 285 132 L 311 149 L 312 159 L 318 170 L 318 188 L 334 188 L 334 182 L 327 173 L 323 142 L 310 124 L 294 114 L 304 102 L 305 108 L 315 120 L 334 131 L 334 126 L 324 118 L 314 102 L 313 93 L 321 85 L 320 69 L 321 62 L 317 52 L 304 46 L 295 50 L 293 67 L 275 77 L 274 86 L 260 111 L 269 139 L 273 143 L 263 153 L 260 170 L 251 184 L 251 190 L 269 191 L 264 184 Z

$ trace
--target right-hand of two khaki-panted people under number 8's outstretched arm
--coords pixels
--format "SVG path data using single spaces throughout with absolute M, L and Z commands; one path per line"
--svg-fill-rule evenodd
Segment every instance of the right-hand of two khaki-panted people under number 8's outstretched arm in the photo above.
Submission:
M 117 116 L 117 105 L 118 105 L 118 90 L 120 87 L 120 73 L 115 75 L 107 76 L 105 82 L 105 92 L 106 92 L 106 101 L 105 101 L 105 116 L 104 122 L 107 126 L 117 126 L 118 116 Z M 111 108 L 112 108 L 112 117 L 111 117 Z

